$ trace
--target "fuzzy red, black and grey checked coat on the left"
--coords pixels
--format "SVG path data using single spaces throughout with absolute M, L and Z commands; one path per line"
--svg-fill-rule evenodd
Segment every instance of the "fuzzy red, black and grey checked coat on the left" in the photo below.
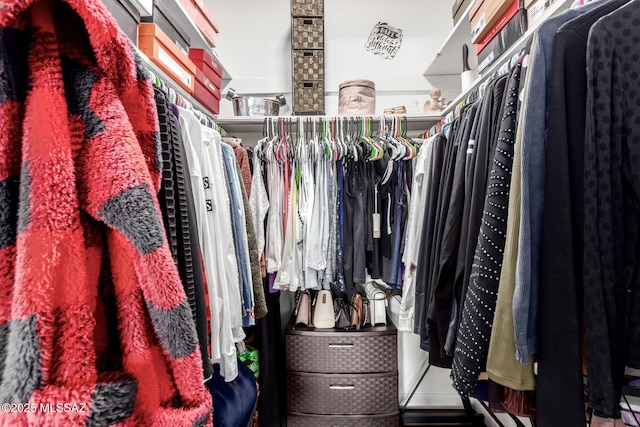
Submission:
M 2 425 L 211 425 L 145 76 L 99 0 L 0 4 Z

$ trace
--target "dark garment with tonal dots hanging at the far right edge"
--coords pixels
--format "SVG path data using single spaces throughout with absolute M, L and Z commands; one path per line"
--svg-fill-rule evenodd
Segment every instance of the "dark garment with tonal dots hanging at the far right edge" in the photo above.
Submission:
M 589 404 L 619 417 L 625 366 L 640 367 L 640 2 L 587 42 L 584 321 Z

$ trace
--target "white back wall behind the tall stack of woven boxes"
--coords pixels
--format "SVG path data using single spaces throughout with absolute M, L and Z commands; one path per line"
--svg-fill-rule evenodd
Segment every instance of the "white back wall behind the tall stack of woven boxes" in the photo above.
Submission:
M 241 94 L 282 93 L 290 101 L 290 0 L 205 3 L 224 23 L 217 51 L 233 76 L 229 86 Z M 376 83 L 377 113 L 398 105 L 405 105 L 408 113 L 421 113 L 433 86 L 440 87 L 448 98 L 459 93 L 457 76 L 432 81 L 423 76 L 428 61 L 453 25 L 452 3 L 325 0 L 326 113 L 337 114 L 339 84 L 357 78 Z M 394 59 L 383 59 L 365 49 L 369 33 L 378 22 L 402 29 L 402 46 Z M 222 115 L 233 115 L 230 102 L 222 101 L 220 107 Z

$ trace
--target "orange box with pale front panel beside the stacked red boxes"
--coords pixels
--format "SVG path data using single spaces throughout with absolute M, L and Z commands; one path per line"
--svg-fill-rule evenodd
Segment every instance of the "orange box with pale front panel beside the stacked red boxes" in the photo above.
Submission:
M 184 90 L 195 89 L 196 65 L 156 24 L 142 23 L 138 29 L 138 48 Z

